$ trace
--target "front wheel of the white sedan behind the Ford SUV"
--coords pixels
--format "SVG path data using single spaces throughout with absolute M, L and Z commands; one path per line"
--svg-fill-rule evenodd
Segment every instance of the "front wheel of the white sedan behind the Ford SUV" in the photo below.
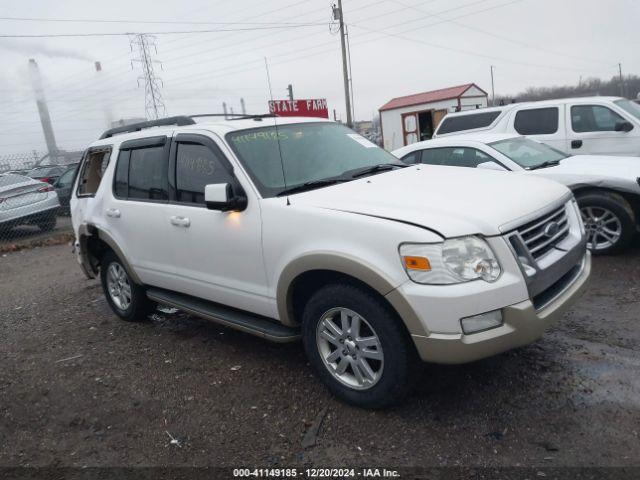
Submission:
M 578 195 L 577 201 L 591 253 L 611 255 L 629 246 L 636 233 L 635 215 L 629 202 L 613 192 L 585 193 Z

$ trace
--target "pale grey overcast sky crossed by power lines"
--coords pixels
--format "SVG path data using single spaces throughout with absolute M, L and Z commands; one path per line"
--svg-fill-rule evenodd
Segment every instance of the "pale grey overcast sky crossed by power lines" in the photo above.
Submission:
M 265 112 L 267 57 L 274 98 L 285 98 L 291 83 L 296 97 L 326 98 L 344 119 L 331 3 L 5 0 L 5 18 L 114 22 L 0 19 L 0 34 L 245 29 L 156 36 L 153 56 L 161 65 L 155 71 L 167 115 L 221 112 L 222 102 L 239 112 L 240 98 L 249 112 Z M 618 62 L 625 74 L 640 73 L 636 0 L 344 0 L 343 6 L 358 120 L 371 119 L 389 99 L 411 93 L 468 82 L 490 93 L 490 65 L 496 94 L 576 84 L 580 77 L 609 79 Z M 158 23 L 164 21 L 191 23 Z M 274 28 L 283 24 L 295 26 Z M 137 84 L 141 67 L 131 68 L 137 57 L 126 36 L 0 38 L 0 156 L 45 149 L 29 58 L 39 64 L 58 145 L 72 150 L 96 139 L 108 119 L 144 117 L 144 83 Z M 94 60 L 102 62 L 99 75 Z

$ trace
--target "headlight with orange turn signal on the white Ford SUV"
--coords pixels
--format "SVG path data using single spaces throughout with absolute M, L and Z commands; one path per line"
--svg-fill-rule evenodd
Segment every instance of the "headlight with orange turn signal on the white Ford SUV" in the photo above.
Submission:
M 476 236 L 442 243 L 403 243 L 400 256 L 407 275 L 416 283 L 448 285 L 477 279 L 495 282 L 502 273 L 489 244 Z

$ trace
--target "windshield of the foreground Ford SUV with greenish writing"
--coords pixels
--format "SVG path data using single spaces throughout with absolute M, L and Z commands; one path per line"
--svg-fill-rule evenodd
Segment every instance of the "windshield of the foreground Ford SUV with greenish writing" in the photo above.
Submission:
M 274 197 L 307 184 L 330 185 L 334 182 L 322 180 L 336 179 L 352 170 L 387 164 L 405 166 L 390 153 L 337 123 L 287 124 L 279 125 L 277 130 L 253 128 L 231 132 L 226 138 L 263 197 Z M 370 173 L 385 170 L 372 169 Z

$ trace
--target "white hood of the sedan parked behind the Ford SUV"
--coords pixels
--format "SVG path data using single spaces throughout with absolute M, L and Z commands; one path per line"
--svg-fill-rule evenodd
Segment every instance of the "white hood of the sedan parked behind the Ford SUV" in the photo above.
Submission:
M 576 155 L 565 158 L 555 167 L 541 168 L 530 173 L 572 188 L 590 185 L 640 193 L 640 157 Z

